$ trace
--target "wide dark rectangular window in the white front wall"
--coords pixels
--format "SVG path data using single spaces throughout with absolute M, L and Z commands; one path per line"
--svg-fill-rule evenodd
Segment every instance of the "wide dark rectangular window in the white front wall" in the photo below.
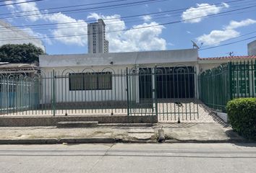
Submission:
M 112 73 L 69 74 L 69 91 L 112 89 Z

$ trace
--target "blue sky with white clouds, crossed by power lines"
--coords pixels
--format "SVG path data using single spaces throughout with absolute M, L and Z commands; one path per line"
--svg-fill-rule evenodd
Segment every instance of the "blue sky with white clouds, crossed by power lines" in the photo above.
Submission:
M 87 24 L 100 18 L 110 52 L 187 49 L 193 40 L 202 58 L 246 56 L 256 40 L 255 0 L 0 1 L 0 19 L 38 37 L 50 55 L 88 53 Z

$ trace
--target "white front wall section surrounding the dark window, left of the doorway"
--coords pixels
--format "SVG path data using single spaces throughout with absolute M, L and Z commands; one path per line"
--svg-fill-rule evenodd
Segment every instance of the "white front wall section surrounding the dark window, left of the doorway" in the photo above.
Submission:
M 120 67 L 121 68 L 121 67 Z M 116 68 L 93 68 L 94 72 L 109 71 L 112 73 L 112 89 L 106 90 L 69 90 L 69 73 L 93 72 L 91 69 L 73 68 L 72 70 L 64 70 L 65 68 L 54 69 L 56 79 L 56 102 L 101 102 L 106 100 L 125 101 L 127 100 L 127 79 L 126 68 L 121 70 Z M 67 68 L 68 69 L 68 68 Z M 43 68 L 48 79 L 43 80 L 43 103 L 50 103 L 53 97 L 53 69 Z M 64 71 L 64 74 L 62 72 Z M 66 77 L 61 77 L 66 76 Z M 129 79 L 132 81 L 132 79 Z

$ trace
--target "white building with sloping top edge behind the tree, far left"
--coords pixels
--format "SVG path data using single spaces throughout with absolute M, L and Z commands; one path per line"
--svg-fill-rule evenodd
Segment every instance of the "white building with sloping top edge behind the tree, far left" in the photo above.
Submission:
M 28 44 L 32 43 L 38 48 L 42 48 L 45 52 L 45 47 L 41 40 L 37 39 L 33 35 L 29 35 L 27 32 L 9 25 L 7 22 L 0 20 L 0 46 L 6 44 Z

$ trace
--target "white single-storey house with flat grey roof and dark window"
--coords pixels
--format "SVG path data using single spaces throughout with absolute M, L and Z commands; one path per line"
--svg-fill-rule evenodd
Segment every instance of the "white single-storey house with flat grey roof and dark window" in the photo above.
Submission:
M 197 49 L 185 49 L 42 55 L 39 61 L 42 75 L 46 78 L 55 78 L 56 95 L 54 97 L 57 103 L 74 100 L 76 102 L 106 100 L 118 102 L 127 100 L 127 97 L 139 102 L 141 99 L 154 97 L 155 87 L 161 87 L 158 89 L 158 98 L 195 97 L 197 57 Z M 159 74 L 156 79 L 150 76 L 156 73 L 164 73 L 164 76 Z M 174 76 L 174 74 L 185 73 L 187 76 Z M 187 88 L 177 86 L 177 81 L 186 84 Z M 51 86 L 51 84 L 51 81 L 46 81 L 43 86 Z M 127 85 L 129 85 L 130 96 L 127 95 Z M 174 92 L 168 89 L 171 85 L 174 85 Z M 46 89 L 44 92 L 43 102 L 51 102 L 52 91 Z

